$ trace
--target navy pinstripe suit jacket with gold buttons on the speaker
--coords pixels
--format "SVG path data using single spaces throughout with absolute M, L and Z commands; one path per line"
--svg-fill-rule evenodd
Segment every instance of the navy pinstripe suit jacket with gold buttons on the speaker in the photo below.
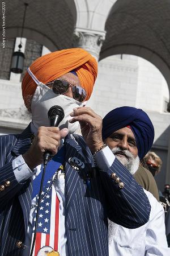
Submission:
M 30 125 L 17 135 L 0 137 L 0 185 L 10 186 L 0 192 L 0 251 L 1 256 L 22 255 L 16 242 L 24 243 L 31 207 L 32 178 L 18 183 L 12 170 L 12 160 L 24 154 L 31 144 Z M 66 234 L 69 255 L 108 255 L 108 221 L 138 228 L 148 221 L 150 204 L 133 176 L 117 159 L 107 171 L 92 169 L 92 155 L 83 138 L 67 136 L 66 144 Z M 76 172 L 68 159 L 76 156 L 85 168 Z M 83 183 L 84 174 L 90 172 L 91 189 Z M 111 179 L 116 172 L 125 187 L 120 189 Z

